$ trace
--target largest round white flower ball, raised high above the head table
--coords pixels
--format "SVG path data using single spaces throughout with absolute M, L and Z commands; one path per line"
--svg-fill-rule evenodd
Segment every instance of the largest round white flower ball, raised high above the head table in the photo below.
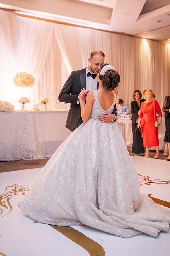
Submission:
M 26 72 L 19 72 L 13 77 L 13 84 L 16 87 L 32 88 L 35 84 L 35 79 L 31 74 Z

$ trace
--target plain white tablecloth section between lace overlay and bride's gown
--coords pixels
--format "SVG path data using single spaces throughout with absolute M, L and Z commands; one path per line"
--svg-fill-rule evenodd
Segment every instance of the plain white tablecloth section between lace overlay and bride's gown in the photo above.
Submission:
M 51 157 L 67 139 L 71 131 L 65 127 L 68 111 L 32 112 L 41 149 L 45 157 Z

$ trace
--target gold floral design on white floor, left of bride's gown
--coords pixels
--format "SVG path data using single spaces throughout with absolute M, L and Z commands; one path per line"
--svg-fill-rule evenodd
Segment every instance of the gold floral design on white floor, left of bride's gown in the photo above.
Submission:
M 15 195 L 24 195 L 26 191 L 29 191 L 30 185 L 24 185 L 18 187 L 18 185 L 14 184 L 13 186 L 8 186 L 5 188 L 4 194 L 0 195 L 0 217 L 4 217 L 12 211 L 12 206 L 10 204 L 10 199 Z

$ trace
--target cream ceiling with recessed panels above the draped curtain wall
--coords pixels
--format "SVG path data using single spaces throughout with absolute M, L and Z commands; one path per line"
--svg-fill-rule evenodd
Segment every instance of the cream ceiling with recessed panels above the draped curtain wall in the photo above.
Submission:
M 170 0 L 0 0 L 0 8 L 170 43 Z

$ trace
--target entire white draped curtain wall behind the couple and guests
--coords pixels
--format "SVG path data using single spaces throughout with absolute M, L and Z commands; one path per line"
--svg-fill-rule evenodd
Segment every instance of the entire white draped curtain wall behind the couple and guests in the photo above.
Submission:
M 85 68 L 91 51 L 105 53 L 105 62 L 120 73 L 119 98 L 130 105 L 136 89 L 152 89 L 162 107 L 170 95 L 170 44 L 89 28 L 19 17 L 0 11 L 0 100 L 27 96 L 32 103 L 49 98 L 48 108 L 72 70 Z M 12 78 L 28 72 L 34 88 L 15 88 Z M 34 101 L 34 102 L 33 102 Z

